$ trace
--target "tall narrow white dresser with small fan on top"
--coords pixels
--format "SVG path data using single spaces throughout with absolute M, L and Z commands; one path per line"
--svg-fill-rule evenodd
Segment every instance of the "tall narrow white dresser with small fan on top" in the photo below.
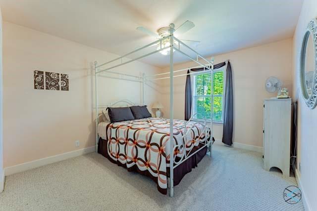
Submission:
M 264 169 L 276 167 L 289 176 L 291 141 L 291 98 L 264 100 Z

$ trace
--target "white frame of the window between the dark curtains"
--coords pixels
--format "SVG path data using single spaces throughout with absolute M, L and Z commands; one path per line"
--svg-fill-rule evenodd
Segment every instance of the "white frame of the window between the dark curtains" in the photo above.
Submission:
M 222 125 L 223 124 L 223 114 L 224 114 L 224 103 L 223 103 L 223 99 L 224 99 L 224 93 L 225 93 L 225 83 L 226 83 L 226 65 L 225 66 L 223 66 L 223 67 L 220 67 L 220 68 L 218 68 L 218 69 L 215 69 L 215 70 L 213 70 L 213 73 L 217 73 L 217 72 L 223 72 L 223 92 L 222 92 L 222 95 L 221 94 L 214 94 L 213 95 L 213 98 L 214 97 L 221 97 L 222 96 L 222 115 L 221 115 L 221 121 L 220 122 L 218 122 L 218 121 L 212 121 L 212 123 L 213 124 L 215 124 L 215 125 Z M 202 74 L 208 74 L 208 73 L 202 73 L 202 72 L 197 72 L 196 74 L 193 74 L 193 83 L 192 83 L 192 85 L 193 85 L 193 94 L 192 94 L 192 96 L 193 96 L 193 104 L 192 104 L 192 106 L 193 106 L 193 109 L 192 109 L 192 113 L 194 114 L 194 113 L 196 113 L 196 99 L 197 99 L 197 97 L 204 97 L 204 96 L 210 96 L 210 95 L 195 95 L 196 94 L 196 76 L 198 76 L 198 75 L 202 75 Z M 213 77 L 213 75 L 212 75 L 212 77 Z M 212 80 L 213 79 L 211 79 L 211 82 L 212 82 Z M 212 112 L 212 111 L 211 111 Z M 193 118 L 193 120 L 194 121 L 197 121 L 197 122 L 201 122 L 201 121 L 204 121 L 204 120 L 202 120 L 202 119 L 197 119 L 197 118 Z M 208 122 L 210 122 L 210 121 L 208 121 Z

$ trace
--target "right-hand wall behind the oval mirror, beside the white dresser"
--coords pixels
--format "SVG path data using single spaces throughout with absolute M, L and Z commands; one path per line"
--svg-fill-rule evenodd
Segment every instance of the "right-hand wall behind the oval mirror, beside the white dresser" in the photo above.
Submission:
M 302 97 L 299 84 L 299 57 L 302 39 L 308 22 L 317 17 L 317 0 L 305 0 L 298 20 L 293 38 L 293 75 L 294 75 L 294 101 L 298 100 L 298 148 L 297 169 L 298 180 L 304 192 L 304 205 L 306 210 L 317 210 L 317 108 L 309 109 Z

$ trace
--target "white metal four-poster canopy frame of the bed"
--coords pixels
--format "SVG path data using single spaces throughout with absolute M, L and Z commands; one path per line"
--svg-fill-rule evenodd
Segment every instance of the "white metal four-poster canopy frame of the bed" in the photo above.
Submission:
M 211 79 L 212 79 L 212 74 L 213 74 L 213 61 L 208 61 L 206 58 L 204 58 L 203 56 L 201 56 L 198 52 L 196 52 L 194 49 L 192 49 L 191 47 L 189 47 L 188 45 L 186 45 L 184 42 L 181 42 L 180 40 L 178 40 L 177 38 L 174 37 L 173 35 L 173 32 L 174 32 L 174 29 L 173 28 L 170 28 L 170 32 L 169 32 L 169 36 L 167 37 L 164 37 L 162 39 L 159 39 L 158 41 L 155 41 L 155 42 L 151 42 L 150 44 L 147 44 L 141 48 L 138 48 L 134 51 L 131 51 L 130 53 L 127 53 L 123 56 L 120 56 L 116 59 L 113 59 L 111 61 L 108 61 L 106 63 L 103 63 L 103 64 L 98 64 L 97 61 L 95 61 L 95 88 L 96 88 L 96 96 L 95 96 L 95 100 L 96 100 L 96 150 L 98 150 L 98 141 L 99 141 L 99 134 L 98 134 L 98 124 L 99 124 L 99 108 L 100 107 L 104 107 L 105 104 L 99 104 L 98 102 L 98 76 L 101 76 L 101 77 L 106 77 L 106 78 L 113 78 L 113 79 L 120 79 L 120 80 L 126 80 L 126 81 L 133 81 L 133 82 L 139 82 L 139 83 L 142 83 L 142 104 L 144 105 L 145 104 L 145 101 L 144 101 L 144 95 L 145 95 L 145 84 L 146 84 L 146 81 L 155 81 L 155 80 L 162 80 L 162 79 L 168 79 L 169 78 L 169 81 L 170 81 L 170 96 L 169 96 L 169 109 L 170 109 L 170 115 L 169 115 L 169 121 L 170 121 L 170 127 L 169 127 L 169 136 L 170 136 L 170 140 L 173 140 L 172 138 L 172 135 L 173 135 L 173 121 L 174 121 L 174 112 L 173 112 L 173 108 L 174 108 L 174 105 L 173 105 L 173 97 L 174 97 L 174 94 L 173 94 L 173 91 L 174 91 L 174 87 L 173 87 L 173 78 L 175 77 L 180 77 L 180 76 L 185 76 L 185 75 L 192 75 L 192 74 L 196 74 L 196 73 L 189 73 L 189 74 L 181 74 L 181 75 L 174 75 L 174 73 L 177 73 L 177 72 L 181 72 L 181 71 L 185 71 L 185 70 L 188 70 L 189 68 L 187 69 L 182 69 L 182 70 L 176 70 L 174 71 L 174 62 L 173 62 L 173 50 L 183 54 L 184 56 L 188 57 L 189 59 L 191 59 L 192 61 L 198 63 L 200 66 L 198 67 L 203 67 L 204 68 L 204 71 L 203 72 L 206 72 L 206 73 L 210 73 L 211 74 Z M 162 47 L 162 41 L 165 41 L 165 40 L 169 40 L 169 43 L 170 45 L 169 46 L 166 46 L 166 47 Z M 166 41 L 165 41 L 166 42 Z M 148 48 L 150 46 L 153 46 L 153 45 L 156 45 L 158 44 L 160 47 L 159 49 L 155 50 L 155 51 L 152 51 L 150 53 L 146 53 L 142 56 L 139 56 L 135 59 L 128 59 L 127 56 L 133 54 L 133 53 L 136 53 L 136 52 L 139 52 L 145 48 Z M 175 44 L 177 46 L 175 46 Z M 188 54 L 186 54 L 185 52 L 183 52 L 181 50 L 181 46 L 184 46 L 185 48 L 191 50 L 192 52 L 194 52 L 196 54 L 196 58 L 193 58 L 191 56 L 189 56 Z M 142 76 L 134 76 L 134 75 L 130 75 L 130 74 L 122 74 L 122 73 L 118 73 L 118 72 L 113 72 L 113 71 L 109 71 L 110 69 L 113 69 L 113 68 L 116 68 L 116 67 L 119 67 L 119 66 L 122 66 L 122 65 L 125 65 L 125 64 L 128 64 L 130 62 L 133 62 L 133 61 L 136 61 L 136 60 L 139 60 L 141 58 L 144 58 L 146 56 L 149 56 L 149 55 L 152 55 L 152 54 L 155 54 L 155 53 L 158 53 L 159 51 L 161 50 L 165 50 L 169 48 L 169 72 L 166 72 L 166 73 L 160 73 L 160 74 L 156 74 L 156 75 L 153 75 L 153 76 L 147 76 L 145 74 L 143 74 Z M 125 61 L 125 58 L 127 59 Z M 199 59 L 201 60 L 204 60 L 207 62 L 207 64 L 203 64 L 199 61 Z M 108 64 L 113 64 L 114 62 L 120 62 L 119 64 L 116 64 L 116 65 L 112 65 L 110 67 L 107 67 L 105 69 L 102 69 L 102 67 L 104 67 L 105 65 L 108 65 Z M 193 67 L 193 68 L 198 68 L 198 67 Z M 115 75 L 118 75 L 118 77 L 114 77 L 114 76 L 109 76 L 107 75 L 106 73 L 110 73 L 110 74 L 115 74 Z M 162 75 L 169 75 L 168 77 L 162 77 L 162 78 L 156 78 L 158 76 L 162 76 Z M 120 77 L 121 76 L 121 77 Z M 189 121 L 184 121 L 184 135 L 183 135 L 183 140 L 184 140 L 184 146 L 179 146 L 179 145 L 175 145 L 173 146 L 173 141 L 170 141 L 170 152 L 169 152 L 169 155 L 170 155 L 170 165 L 169 165 L 169 173 L 170 173 L 170 176 L 169 176 L 169 180 L 168 180 L 168 187 L 169 187 L 169 190 L 170 190 L 170 197 L 173 197 L 174 195 L 174 191 L 173 191 L 173 169 L 176 168 L 177 166 L 179 166 L 181 163 L 183 163 L 184 161 L 186 161 L 188 158 L 190 158 L 191 156 L 193 156 L 194 154 L 196 154 L 197 152 L 199 152 L 200 150 L 202 150 L 203 148 L 205 147 L 208 147 L 209 146 L 209 151 L 210 151 L 210 156 L 211 156 L 211 152 L 212 152 L 212 136 L 213 136 L 213 129 L 212 129 L 212 106 L 213 106 L 213 83 L 211 81 L 211 84 L 212 84 L 212 87 L 211 87 L 211 117 L 210 117 L 210 120 L 208 121 L 206 118 L 204 120 L 204 124 L 200 123 L 200 122 L 195 122 L 195 124 L 192 126 L 192 127 L 195 127 L 197 124 L 200 124 L 202 126 L 204 126 L 204 131 L 205 131 L 205 138 L 203 140 L 200 140 L 200 137 L 198 138 L 198 140 L 200 140 L 199 142 L 201 144 L 203 144 L 203 146 L 201 148 L 199 148 L 197 151 L 193 152 L 192 154 L 190 154 L 190 152 L 192 151 L 192 149 L 187 152 L 186 151 L 186 143 L 187 143 L 187 134 L 188 132 L 191 130 L 192 127 L 190 128 L 187 128 L 187 125 L 188 123 L 193 119 L 193 117 L 196 115 L 192 115 L 190 120 Z M 207 123 L 210 123 L 210 127 L 207 126 Z M 179 128 L 179 127 L 177 127 Z M 210 132 L 210 139 L 208 140 L 207 139 L 207 135 L 208 133 Z M 203 134 L 203 133 L 202 133 Z M 202 135 L 201 134 L 201 135 Z M 181 150 L 182 148 L 182 157 L 176 161 L 175 160 L 175 156 L 174 156 L 174 150 L 178 148 L 179 150 Z M 167 153 L 166 153 L 167 154 Z

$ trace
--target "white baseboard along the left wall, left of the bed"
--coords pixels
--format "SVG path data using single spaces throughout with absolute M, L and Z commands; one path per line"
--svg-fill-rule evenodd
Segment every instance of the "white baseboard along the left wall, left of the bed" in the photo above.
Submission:
M 63 161 L 69 158 L 74 158 L 74 157 L 91 153 L 91 152 L 96 152 L 96 146 L 87 147 L 87 148 L 76 150 L 76 151 L 66 152 L 63 154 L 54 155 L 47 158 L 42 158 L 39 160 L 30 161 L 23 164 L 18 164 L 12 167 L 7 167 L 4 169 L 4 174 L 7 176 L 7 175 L 19 173 L 19 172 L 30 170 L 30 169 L 35 169 L 38 167 L 46 166 L 48 164 L 53 164 L 55 162 Z

